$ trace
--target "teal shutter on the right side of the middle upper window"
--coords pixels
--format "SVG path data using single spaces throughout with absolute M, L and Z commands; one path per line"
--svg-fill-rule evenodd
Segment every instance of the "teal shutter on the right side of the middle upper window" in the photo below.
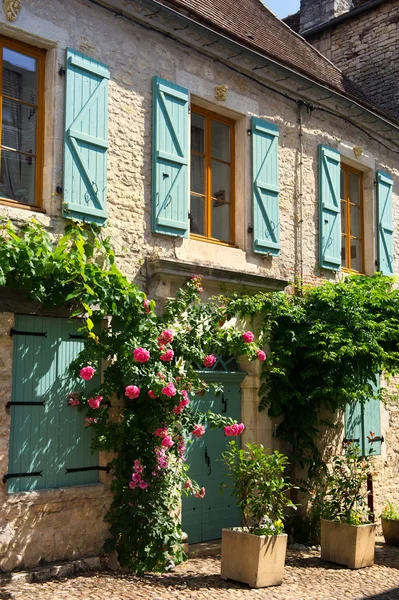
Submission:
M 278 128 L 252 117 L 254 252 L 280 254 Z

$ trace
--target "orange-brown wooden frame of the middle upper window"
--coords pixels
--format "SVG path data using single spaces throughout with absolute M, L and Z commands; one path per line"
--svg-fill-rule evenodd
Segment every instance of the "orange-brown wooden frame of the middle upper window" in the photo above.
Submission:
M 205 242 L 211 242 L 212 244 L 219 244 L 220 246 L 235 246 L 235 121 L 233 119 L 229 119 L 223 115 L 215 113 L 211 110 L 203 108 L 202 106 L 197 106 L 195 104 L 191 105 L 190 113 L 196 113 L 205 118 L 205 140 L 204 140 L 204 154 L 199 152 L 193 152 L 191 150 L 191 137 L 190 137 L 190 160 L 193 154 L 197 156 L 202 156 L 204 158 L 205 164 L 205 232 L 209 235 L 199 235 L 196 233 L 190 233 L 190 238 L 195 240 L 201 240 Z M 220 162 L 224 164 L 230 165 L 230 242 L 224 242 L 223 240 L 219 240 L 217 238 L 213 238 L 210 234 L 212 232 L 212 198 L 211 198 L 211 182 L 212 182 L 212 148 L 211 148 L 211 127 L 212 121 L 218 121 L 219 123 L 223 123 L 230 127 L 230 163 L 220 159 Z M 191 187 L 191 185 L 190 185 Z M 192 192 L 190 190 L 190 198 L 191 196 L 199 196 L 203 197 L 203 194 L 198 194 L 196 192 Z

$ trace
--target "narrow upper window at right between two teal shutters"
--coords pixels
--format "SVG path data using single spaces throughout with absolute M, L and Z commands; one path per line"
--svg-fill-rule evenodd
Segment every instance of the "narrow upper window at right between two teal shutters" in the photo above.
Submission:
M 341 163 L 341 264 L 363 273 L 363 174 Z

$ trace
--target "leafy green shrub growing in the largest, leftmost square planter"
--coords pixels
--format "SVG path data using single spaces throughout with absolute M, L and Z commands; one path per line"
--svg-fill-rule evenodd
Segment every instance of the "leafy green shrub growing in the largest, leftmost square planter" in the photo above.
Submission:
M 240 449 L 234 440 L 222 456 L 228 479 L 232 481 L 222 485 L 232 488 L 249 533 L 282 533 L 284 509 L 295 508 L 287 496 L 292 485 L 284 477 L 288 458 L 277 451 L 266 454 L 259 444 L 247 444 L 246 449 Z

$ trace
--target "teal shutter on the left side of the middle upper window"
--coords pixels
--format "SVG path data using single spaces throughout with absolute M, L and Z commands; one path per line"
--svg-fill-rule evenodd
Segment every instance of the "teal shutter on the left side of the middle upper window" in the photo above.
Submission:
M 153 79 L 152 230 L 188 237 L 188 90 Z

